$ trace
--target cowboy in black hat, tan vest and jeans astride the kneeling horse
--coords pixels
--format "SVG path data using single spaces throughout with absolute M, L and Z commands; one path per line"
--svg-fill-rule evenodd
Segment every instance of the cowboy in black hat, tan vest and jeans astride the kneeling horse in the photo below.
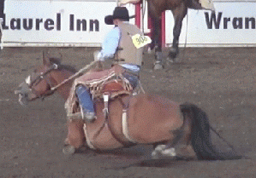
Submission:
M 139 81 L 143 49 L 135 48 L 132 36 L 143 34 L 137 26 L 129 24 L 128 21 L 128 9 L 125 7 L 116 7 L 113 15 L 105 16 L 105 24 L 115 25 L 115 27 L 104 38 L 102 50 L 98 53 L 96 60 L 104 61 L 105 59 L 114 58 L 117 65 L 122 66 L 126 71 L 123 74 L 124 78 L 127 78 L 135 88 Z M 84 118 L 92 121 L 95 118 L 95 111 L 92 96 L 88 89 L 80 84 L 76 87 L 75 94 L 80 102 Z

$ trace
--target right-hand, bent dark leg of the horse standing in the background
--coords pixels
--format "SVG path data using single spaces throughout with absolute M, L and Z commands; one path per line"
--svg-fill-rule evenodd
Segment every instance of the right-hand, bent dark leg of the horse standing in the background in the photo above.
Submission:
M 170 53 L 167 60 L 170 62 L 175 62 L 176 56 L 179 54 L 179 37 L 182 32 L 182 20 L 188 13 L 188 8 L 182 3 L 181 6 L 172 10 L 172 14 L 175 20 L 175 26 L 173 28 L 173 42 L 170 48 Z

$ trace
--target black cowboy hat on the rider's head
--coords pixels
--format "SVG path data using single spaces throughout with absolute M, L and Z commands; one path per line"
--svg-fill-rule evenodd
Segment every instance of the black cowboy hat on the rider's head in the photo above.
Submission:
M 125 7 L 116 7 L 112 15 L 105 16 L 104 22 L 107 25 L 113 25 L 113 20 L 115 19 L 128 21 L 130 19 L 128 9 Z

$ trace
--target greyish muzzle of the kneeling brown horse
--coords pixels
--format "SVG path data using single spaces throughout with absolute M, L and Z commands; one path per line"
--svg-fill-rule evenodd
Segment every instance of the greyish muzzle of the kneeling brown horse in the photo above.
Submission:
M 21 106 L 27 106 L 28 101 L 34 100 L 36 98 L 36 95 L 32 93 L 27 83 L 21 83 L 18 90 L 15 90 L 15 95 L 19 96 L 19 102 Z

